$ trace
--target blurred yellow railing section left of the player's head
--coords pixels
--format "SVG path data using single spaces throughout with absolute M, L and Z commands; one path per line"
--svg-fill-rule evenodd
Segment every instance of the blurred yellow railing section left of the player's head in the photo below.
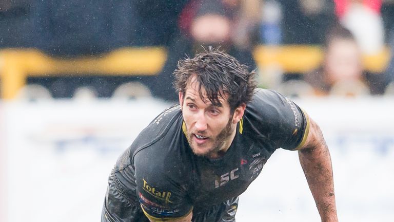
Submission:
M 12 99 L 27 77 L 102 74 L 107 76 L 156 75 L 167 59 L 163 47 L 121 48 L 100 57 L 54 59 L 35 49 L 0 51 L 3 99 Z

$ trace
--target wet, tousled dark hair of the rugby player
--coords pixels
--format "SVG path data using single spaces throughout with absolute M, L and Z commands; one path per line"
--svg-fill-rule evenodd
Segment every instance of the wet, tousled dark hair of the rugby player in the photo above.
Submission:
M 256 87 L 255 71 L 249 71 L 246 65 L 219 48 L 209 47 L 194 58 L 178 61 L 178 68 L 173 75 L 173 85 L 183 95 L 193 75 L 199 83 L 199 93 L 203 101 L 202 87 L 213 105 L 222 106 L 219 97 L 224 98 L 224 94 L 228 94 L 227 101 L 232 111 L 242 103 L 250 102 Z

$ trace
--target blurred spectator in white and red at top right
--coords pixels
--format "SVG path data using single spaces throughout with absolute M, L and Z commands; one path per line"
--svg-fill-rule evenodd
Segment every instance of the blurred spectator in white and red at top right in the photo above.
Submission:
M 385 31 L 381 16 L 382 0 L 334 0 L 340 23 L 349 29 L 364 54 L 383 50 Z

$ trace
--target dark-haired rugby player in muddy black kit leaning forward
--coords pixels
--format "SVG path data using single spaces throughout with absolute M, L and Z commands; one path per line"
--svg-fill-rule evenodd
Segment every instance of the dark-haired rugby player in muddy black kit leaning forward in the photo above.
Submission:
M 239 195 L 280 147 L 298 150 L 321 220 L 338 221 L 328 147 L 304 110 L 211 47 L 174 75 L 179 104 L 117 160 L 102 221 L 235 221 Z

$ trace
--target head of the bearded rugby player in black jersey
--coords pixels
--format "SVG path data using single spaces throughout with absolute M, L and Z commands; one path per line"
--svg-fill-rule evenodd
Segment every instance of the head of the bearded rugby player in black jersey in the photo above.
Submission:
M 229 148 L 255 88 L 255 73 L 218 49 L 179 61 L 174 71 L 187 139 L 194 154 L 220 157 Z

